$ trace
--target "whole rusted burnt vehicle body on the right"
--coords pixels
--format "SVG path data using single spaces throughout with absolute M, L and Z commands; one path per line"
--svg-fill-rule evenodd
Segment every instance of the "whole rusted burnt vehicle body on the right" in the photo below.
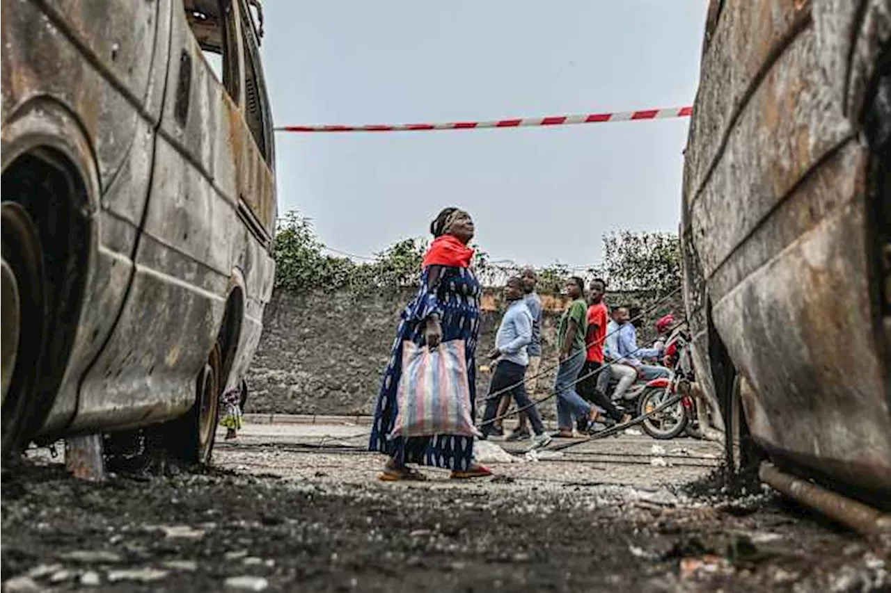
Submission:
M 683 179 L 699 377 L 781 467 L 891 500 L 891 3 L 713 0 Z

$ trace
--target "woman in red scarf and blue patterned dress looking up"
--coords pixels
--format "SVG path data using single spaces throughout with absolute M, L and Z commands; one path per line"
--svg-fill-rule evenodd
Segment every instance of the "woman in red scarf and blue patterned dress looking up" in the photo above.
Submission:
M 467 357 L 467 383 L 470 387 L 470 410 L 476 401 L 476 361 L 474 353 L 479 330 L 480 286 L 470 270 L 473 250 L 467 245 L 473 239 L 470 215 L 449 207 L 430 223 L 434 240 L 421 265 L 421 288 L 413 302 L 405 307 L 396 341 L 390 353 L 387 371 L 380 386 L 369 450 L 389 456 L 380 479 L 423 480 L 417 469 L 408 464 L 443 467 L 452 470 L 453 478 L 490 475 L 486 467 L 473 462 L 473 437 L 435 435 L 390 437 L 396 422 L 396 389 L 402 374 L 403 342 L 436 347 L 441 342 L 463 340 Z

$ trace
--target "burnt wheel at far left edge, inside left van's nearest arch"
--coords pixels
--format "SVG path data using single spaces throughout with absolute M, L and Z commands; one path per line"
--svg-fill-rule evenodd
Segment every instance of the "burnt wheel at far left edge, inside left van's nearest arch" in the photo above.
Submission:
M 44 337 L 43 254 L 19 204 L 0 202 L 0 462 L 27 443 Z

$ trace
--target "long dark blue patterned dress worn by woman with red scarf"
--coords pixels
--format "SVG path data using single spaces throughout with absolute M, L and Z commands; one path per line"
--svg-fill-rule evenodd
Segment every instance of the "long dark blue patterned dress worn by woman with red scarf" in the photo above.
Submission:
M 431 285 L 430 272 L 435 268 L 440 273 L 436 283 Z M 418 463 L 457 471 L 466 470 L 472 465 L 473 437 L 436 435 L 406 439 L 400 436 L 388 440 L 387 435 L 396 421 L 396 386 L 402 374 L 402 343 L 405 340 L 412 340 L 418 345 L 424 343 L 423 321 L 430 313 L 439 313 L 443 342 L 464 340 L 470 386 L 470 413 L 476 418 L 477 368 L 474 353 L 479 332 L 480 292 L 477 277 L 470 268 L 431 265 L 422 272 L 418 295 L 402 313 L 402 322 L 393 343 L 387 372 L 380 386 L 369 443 L 371 451 L 386 453 L 402 463 Z

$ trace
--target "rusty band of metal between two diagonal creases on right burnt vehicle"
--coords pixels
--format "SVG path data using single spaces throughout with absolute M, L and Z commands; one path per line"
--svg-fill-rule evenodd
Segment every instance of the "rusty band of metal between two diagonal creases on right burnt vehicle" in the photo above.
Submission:
M 811 167 L 852 134 L 819 67 L 808 30 L 764 77 L 693 201 L 693 237 L 707 278 Z

